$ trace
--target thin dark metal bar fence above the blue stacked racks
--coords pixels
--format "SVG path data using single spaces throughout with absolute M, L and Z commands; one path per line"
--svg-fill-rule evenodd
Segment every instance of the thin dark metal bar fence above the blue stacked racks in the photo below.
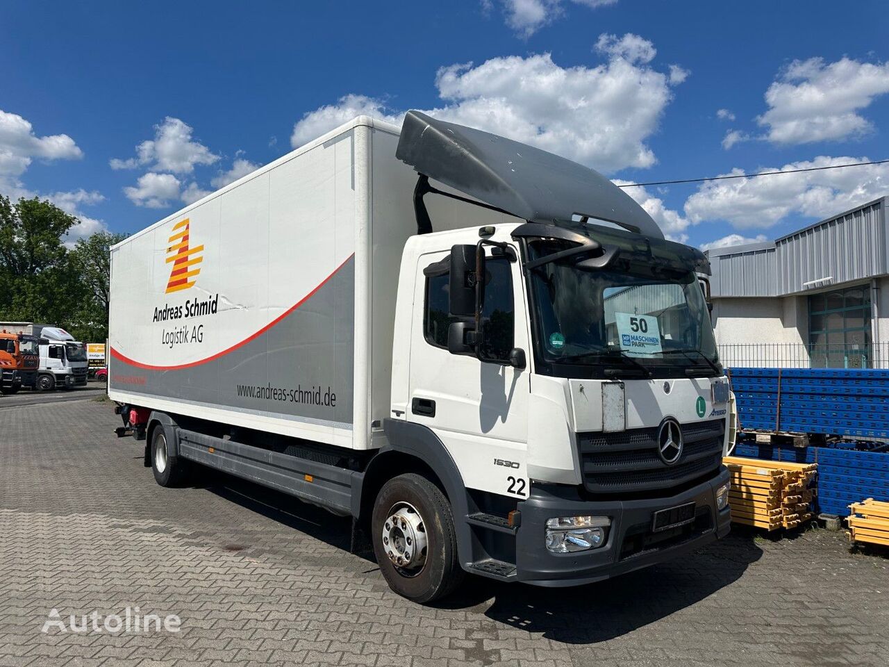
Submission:
M 729 368 L 889 368 L 889 342 L 869 345 L 805 345 L 754 342 L 718 345 Z

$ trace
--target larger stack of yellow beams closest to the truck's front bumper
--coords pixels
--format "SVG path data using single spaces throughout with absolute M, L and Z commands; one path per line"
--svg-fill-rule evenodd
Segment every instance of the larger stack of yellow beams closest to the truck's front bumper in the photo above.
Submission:
M 818 466 L 726 456 L 732 490 L 732 521 L 766 530 L 792 528 L 812 518 Z

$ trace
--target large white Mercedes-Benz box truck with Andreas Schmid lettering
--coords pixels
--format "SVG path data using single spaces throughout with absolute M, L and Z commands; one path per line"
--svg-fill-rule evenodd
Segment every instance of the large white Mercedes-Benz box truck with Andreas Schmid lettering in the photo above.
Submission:
M 586 167 L 358 117 L 112 248 L 108 395 L 159 484 L 351 516 L 406 598 L 595 582 L 728 533 L 707 273 Z

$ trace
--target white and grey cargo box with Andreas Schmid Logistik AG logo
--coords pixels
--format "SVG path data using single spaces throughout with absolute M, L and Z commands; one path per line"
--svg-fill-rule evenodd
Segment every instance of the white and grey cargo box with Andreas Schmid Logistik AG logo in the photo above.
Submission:
M 379 446 L 416 233 L 397 139 L 356 118 L 113 247 L 109 397 Z

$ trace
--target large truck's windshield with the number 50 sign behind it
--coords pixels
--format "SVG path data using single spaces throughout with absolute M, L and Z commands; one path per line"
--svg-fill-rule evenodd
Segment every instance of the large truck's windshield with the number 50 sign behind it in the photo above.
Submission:
M 572 247 L 540 240 L 531 259 Z M 717 375 L 717 350 L 701 286 L 690 269 L 614 261 L 578 266 L 581 255 L 531 270 L 537 354 L 559 376 Z M 693 369 L 693 370 L 689 370 Z

